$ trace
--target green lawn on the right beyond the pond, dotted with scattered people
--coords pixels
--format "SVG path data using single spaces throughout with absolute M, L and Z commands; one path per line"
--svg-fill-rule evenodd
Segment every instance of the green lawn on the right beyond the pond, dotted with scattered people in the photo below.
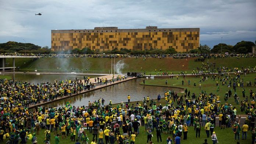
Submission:
M 234 75 L 231 75 L 234 76 Z M 246 86 L 246 81 L 251 81 L 252 85 L 254 84 L 254 78 L 256 76 L 256 73 L 250 73 L 246 76 L 243 75 L 244 77 L 244 89 L 246 91 L 245 96 L 248 96 L 248 99 L 250 100 L 249 97 L 249 90 L 253 90 L 253 92 L 256 91 L 256 86 L 252 86 L 252 87 L 247 87 Z M 218 76 L 217 76 L 218 79 Z M 183 78 L 182 76 L 178 77 L 178 80 L 176 77 L 174 77 L 173 79 L 154 79 L 154 80 L 145 80 L 145 84 L 146 85 L 154 85 L 154 86 L 175 86 L 175 87 L 182 87 L 184 89 L 188 89 L 188 91 L 190 90 L 190 93 L 195 93 L 196 96 L 198 96 L 198 94 L 201 92 L 201 90 L 206 91 L 207 94 L 209 93 L 215 93 L 215 94 L 219 94 L 220 96 L 220 101 L 221 104 L 224 104 L 224 95 L 225 92 L 228 91 L 228 85 L 221 85 L 221 82 L 219 82 L 220 84 L 220 91 L 217 92 L 217 86 L 216 86 L 216 80 L 213 81 L 213 79 L 208 78 L 207 81 L 202 82 L 201 84 L 201 89 L 199 89 L 199 81 L 200 78 L 198 76 L 198 78 L 196 78 L 195 76 L 187 76 L 185 78 Z M 167 80 L 167 85 L 165 84 Z M 184 85 L 182 86 L 182 80 L 184 80 Z M 188 85 L 188 80 L 190 80 L 190 85 Z M 193 86 L 193 83 L 196 82 L 196 86 Z M 143 84 L 143 83 L 141 83 Z M 240 98 L 240 101 L 244 100 L 245 98 L 242 97 L 242 87 L 236 89 L 236 92 Z M 171 89 L 171 88 L 170 88 Z M 232 89 L 232 87 L 231 87 Z M 164 93 L 164 92 L 163 92 Z M 184 93 L 179 93 L 178 96 L 181 96 Z M 234 90 L 232 91 L 232 95 L 234 95 L 235 92 Z M 187 97 L 188 98 L 188 97 Z M 234 101 L 233 97 L 228 98 L 227 101 L 229 104 L 232 104 L 233 106 L 235 106 L 237 108 L 238 114 L 245 114 L 243 112 L 241 112 L 241 109 L 239 107 L 239 105 L 237 105 Z M 165 105 L 165 101 L 161 100 L 161 103 Z M 176 104 L 176 103 L 175 103 Z

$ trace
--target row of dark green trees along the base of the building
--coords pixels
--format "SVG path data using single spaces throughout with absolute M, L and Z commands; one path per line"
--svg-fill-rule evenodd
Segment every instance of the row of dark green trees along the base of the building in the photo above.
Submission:
M 211 49 L 208 45 L 201 45 L 198 49 L 193 49 L 184 53 L 252 53 L 252 47 L 255 47 L 255 43 L 248 41 L 241 41 L 231 46 L 225 43 L 219 43 Z M 40 54 L 49 54 L 49 53 L 73 53 L 73 54 L 176 54 L 178 53 L 175 48 L 168 48 L 166 50 L 150 48 L 144 50 L 129 50 L 127 48 L 114 48 L 113 50 L 99 51 L 91 50 L 88 47 L 82 49 L 74 48 L 73 50 L 68 51 L 51 51 L 48 46 L 40 47 L 32 43 L 18 43 L 18 42 L 7 42 L 0 43 L 0 53 L 40 53 Z

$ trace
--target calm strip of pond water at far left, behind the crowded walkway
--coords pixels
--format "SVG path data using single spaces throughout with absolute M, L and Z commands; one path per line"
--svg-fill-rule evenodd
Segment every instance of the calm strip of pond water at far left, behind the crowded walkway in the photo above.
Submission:
M 6 74 L 3 73 L 1 75 L 11 76 L 14 80 L 28 82 L 28 83 L 43 83 L 43 82 L 50 82 L 53 83 L 54 80 L 74 80 L 75 78 L 83 79 L 83 76 L 87 76 L 90 78 L 95 78 L 97 75 L 54 75 L 54 74 L 23 74 L 23 73 L 16 73 L 16 74 Z

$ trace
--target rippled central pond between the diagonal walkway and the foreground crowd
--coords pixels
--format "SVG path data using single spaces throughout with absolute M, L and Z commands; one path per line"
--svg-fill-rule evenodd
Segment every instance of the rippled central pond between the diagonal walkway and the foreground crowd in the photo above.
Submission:
M 128 94 L 131 96 L 131 101 L 142 101 L 143 97 L 149 96 L 150 99 L 157 98 L 160 94 L 161 98 L 164 97 L 164 91 L 174 90 L 174 92 L 181 91 L 178 88 L 168 88 L 160 86 L 143 86 L 139 83 L 143 79 L 137 78 L 132 79 L 127 82 L 115 84 L 113 86 L 104 87 L 99 90 L 91 91 L 88 93 L 79 94 L 78 96 L 66 98 L 56 102 L 51 102 L 50 104 L 45 104 L 45 107 L 64 107 L 66 102 L 70 102 L 72 106 L 83 106 L 88 105 L 88 101 L 97 101 L 99 98 L 104 98 L 105 104 L 109 104 L 111 100 L 113 104 L 120 102 L 127 102 Z

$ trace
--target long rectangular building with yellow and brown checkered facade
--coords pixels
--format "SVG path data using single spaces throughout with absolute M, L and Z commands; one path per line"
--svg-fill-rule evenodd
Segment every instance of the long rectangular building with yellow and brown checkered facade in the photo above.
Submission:
M 172 47 L 178 52 L 187 52 L 199 47 L 199 36 L 199 28 L 158 29 L 157 26 L 147 26 L 145 29 L 96 27 L 95 29 L 51 30 L 51 50 L 65 51 L 84 47 L 99 51 L 114 48 L 165 50 Z

